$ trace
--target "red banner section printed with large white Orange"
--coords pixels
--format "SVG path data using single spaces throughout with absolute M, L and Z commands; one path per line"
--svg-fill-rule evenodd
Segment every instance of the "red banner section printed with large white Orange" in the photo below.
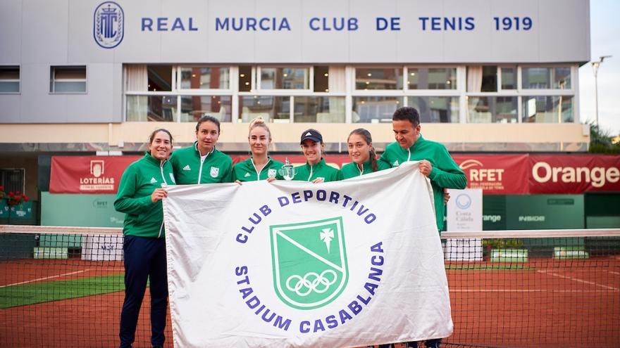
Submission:
M 620 155 L 530 155 L 530 193 L 620 191 Z

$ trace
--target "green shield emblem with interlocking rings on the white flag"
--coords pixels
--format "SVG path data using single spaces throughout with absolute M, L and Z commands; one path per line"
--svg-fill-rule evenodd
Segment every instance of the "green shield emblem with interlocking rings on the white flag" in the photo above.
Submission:
M 296 309 L 325 306 L 349 280 L 342 217 L 270 226 L 273 287 Z

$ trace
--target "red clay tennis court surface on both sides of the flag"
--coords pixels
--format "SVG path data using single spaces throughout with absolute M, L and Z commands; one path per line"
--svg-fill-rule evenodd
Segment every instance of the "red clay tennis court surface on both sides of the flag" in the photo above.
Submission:
M 120 262 L 39 261 L 0 262 L 0 286 L 83 270 L 89 271 L 47 281 L 123 272 Z M 619 347 L 620 257 L 521 265 L 527 269 L 447 270 L 454 334 L 443 347 Z M 115 347 L 122 303 L 123 292 L 115 292 L 0 309 L 0 347 Z M 169 320 L 166 347 L 172 347 Z M 147 291 L 134 347 L 150 347 L 149 337 Z

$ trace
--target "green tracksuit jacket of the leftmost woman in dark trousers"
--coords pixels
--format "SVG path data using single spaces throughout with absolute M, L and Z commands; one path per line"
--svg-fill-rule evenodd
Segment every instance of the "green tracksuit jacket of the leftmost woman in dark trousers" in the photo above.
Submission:
M 114 209 L 125 213 L 125 236 L 163 237 L 163 207 L 161 200 L 151 201 L 151 194 L 162 184 L 174 183 L 170 162 L 161 163 L 149 153 L 125 169 L 114 201 Z

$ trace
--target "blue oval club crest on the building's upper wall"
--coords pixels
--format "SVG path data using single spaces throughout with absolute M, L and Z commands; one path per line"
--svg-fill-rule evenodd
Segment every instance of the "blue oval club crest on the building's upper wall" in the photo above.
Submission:
M 101 3 L 94 10 L 92 34 L 94 41 L 104 49 L 113 49 L 123 41 L 125 14 L 113 1 Z

